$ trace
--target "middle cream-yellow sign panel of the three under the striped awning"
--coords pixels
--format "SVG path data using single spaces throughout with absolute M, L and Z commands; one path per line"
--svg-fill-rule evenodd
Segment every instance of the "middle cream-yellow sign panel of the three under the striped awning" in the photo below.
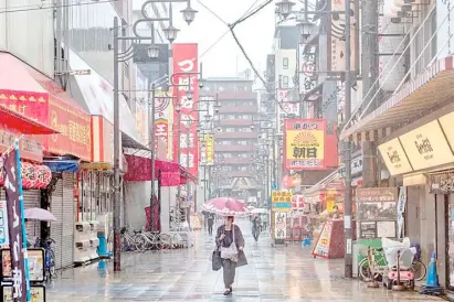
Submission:
M 451 148 L 437 120 L 427 122 L 399 139 L 414 170 L 454 161 Z

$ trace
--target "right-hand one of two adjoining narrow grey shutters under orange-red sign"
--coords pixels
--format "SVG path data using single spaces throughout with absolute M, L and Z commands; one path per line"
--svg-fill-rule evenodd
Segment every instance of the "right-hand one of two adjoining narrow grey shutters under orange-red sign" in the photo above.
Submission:
M 63 173 L 62 266 L 74 263 L 74 174 Z

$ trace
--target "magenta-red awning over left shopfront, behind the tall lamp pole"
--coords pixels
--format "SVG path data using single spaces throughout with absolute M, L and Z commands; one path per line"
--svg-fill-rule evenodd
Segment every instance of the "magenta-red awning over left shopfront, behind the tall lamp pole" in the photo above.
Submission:
M 128 172 L 124 175 L 125 182 L 148 182 L 151 180 L 151 159 L 125 154 Z M 179 163 L 171 161 L 155 161 L 155 176 L 161 173 L 162 186 L 184 184 L 191 175 Z

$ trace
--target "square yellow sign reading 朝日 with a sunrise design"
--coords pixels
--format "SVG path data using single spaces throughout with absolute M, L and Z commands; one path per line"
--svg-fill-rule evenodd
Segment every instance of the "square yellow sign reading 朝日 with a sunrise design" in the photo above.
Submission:
M 286 170 L 323 170 L 326 119 L 284 121 L 284 166 Z

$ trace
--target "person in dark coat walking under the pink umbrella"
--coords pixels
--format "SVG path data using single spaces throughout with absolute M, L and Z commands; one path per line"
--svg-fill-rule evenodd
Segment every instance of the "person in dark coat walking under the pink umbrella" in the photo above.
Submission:
M 217 231 L 217 246 L 221 250 L 222 269 L 225 291 L 224 295 L 232 294 L 236 268 L 247 265 L 244 255 L 244 238 L 237 225 L 233 224 L 233 216 L 225 217 L 224 225 Z

